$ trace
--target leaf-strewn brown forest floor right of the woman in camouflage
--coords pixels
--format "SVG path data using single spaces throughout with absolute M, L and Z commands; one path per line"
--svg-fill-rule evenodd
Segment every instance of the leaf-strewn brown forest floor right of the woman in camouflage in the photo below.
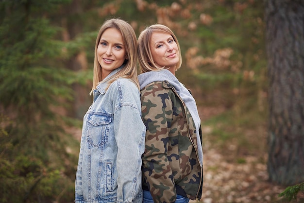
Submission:
M 245 133 L 253 145 L 250 153 L 244 150 L 246 146 L 239 146 L 241 143 L 237 139 L 227 141 L 225 147 L 218 145 L 209 136 L 210 126 L 203 126 L 202 130 L 204 180 L 200 202 L 288 203 L 287 199 L 278 196 L 286 187 L 268 181 L 266 127 L 257 129 L 260 136 L 251 131 Z M 304 203 L 304 193 L 298 193 L 297 199 L 289 203 Z

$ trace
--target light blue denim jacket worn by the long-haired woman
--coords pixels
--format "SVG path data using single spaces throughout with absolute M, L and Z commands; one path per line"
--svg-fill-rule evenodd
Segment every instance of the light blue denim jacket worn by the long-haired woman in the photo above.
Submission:
M 101 83 L 93 91 L 84 116 L 75 203 L 141 203 L 146 128 L 139 90 L 125 78 L 106 86 Z

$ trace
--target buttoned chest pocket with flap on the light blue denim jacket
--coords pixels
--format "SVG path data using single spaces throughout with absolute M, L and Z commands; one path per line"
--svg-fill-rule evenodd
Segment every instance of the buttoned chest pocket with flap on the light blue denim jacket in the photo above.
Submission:
M 93 147 L 100 147 L 103 143 L 107 143 L 112 116 L 90 114 L 86 120 L 88 122 L 87 142 Z

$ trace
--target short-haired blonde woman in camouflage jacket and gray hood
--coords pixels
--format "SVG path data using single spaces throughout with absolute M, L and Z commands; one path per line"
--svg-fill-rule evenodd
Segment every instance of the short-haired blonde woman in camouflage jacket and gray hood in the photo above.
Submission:
M 166 26 L 147 27 L 138 37 L 138 76 L 146 125 L 144 203 L 188 203 L 203 186 L 201 120 L 196 102 L 175 77 L 182 57 Z

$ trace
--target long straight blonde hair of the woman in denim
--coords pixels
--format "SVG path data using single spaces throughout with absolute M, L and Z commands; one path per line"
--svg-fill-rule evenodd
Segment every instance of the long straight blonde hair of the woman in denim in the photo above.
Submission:
M 107 88 L 116 81 L 119 77 L 123 78 L 130 78 L 137 88 L 139 89 L 139 83 L 137 79 L 137 70 L 136 70 L 136 63 L 137 63 L 137 47 L 136 47 L 136 34 L 132 26 L 127 23 L 126 21 L 119 19 L 119 18 L 113 18 L 106 20 L 97 35 L 96 38 L 96 44 L 95 44 L 95 56 L 94 56 L 94 73 L 93 73 L 93 86 L 92 90 L 90 92 L 90 95 L 92 94 L 93 90 L 96 89 L 96 86 L 101 83 L 101 65 L 98 62 L 97 58 L 97 48 L 100 42 L 101 35 L 103 32 L 108 28 L 115 28 L 117 29 L 121 35 L 123 44 L 126 48 L 126 60 L 124 61 L 124 67 L 118 71 L 115 75 L 113 75 L 111 78 L 107 79 L 108 86 Z

